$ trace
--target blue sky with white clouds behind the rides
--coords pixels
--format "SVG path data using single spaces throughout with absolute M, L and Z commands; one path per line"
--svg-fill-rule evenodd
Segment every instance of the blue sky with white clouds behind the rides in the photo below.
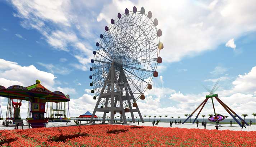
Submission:
M 253 90 L 256 72 L 252 70 L 256 66 L 256 10 L 251 2 L 241 5 L 217 0 L 159 3 L 1 1 L 0 85 L 28 86 L 41 78 L 49 89 L 70 94 L 71 115 L 92 112 L 96 101 L 88 93 L 91 88 L 88 68 L 95 43 L 111 18 L 116 18 L 118 12 L 124 13 L 125 8 L 132 10 L 135 5 L 138 9 L 144 6 L 158 18 L 158 28 L 163 31 L 160 40 L 164 43 L 159 77 L 153 79 L 154 90 L 145 93 L 146 101 L 138 102 L 143 115 L 190 113 L 206 94 L 201 84 L 210 89 L 220 77 L 220 98 L 227 99 L 226 103 L 238 109 L 238 114 L 255 111 L 251 108 L 256 104 L 256 90 Z M 29 77 L 26 77 L 27 67 L 30 67 Z M 18 75 L 22 76 L 18 78 Z M 5 101 L 1 98 L 3 112 Z M 26 109 L 24 106 L 23 116 Z M 206 106 L 205 113 L 211 111 L 211 106 Z

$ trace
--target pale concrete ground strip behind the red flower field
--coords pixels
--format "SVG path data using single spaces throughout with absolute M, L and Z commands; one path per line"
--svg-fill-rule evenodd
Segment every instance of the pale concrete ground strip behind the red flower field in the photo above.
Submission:
M 24 122 L 24 127 L 23 129 L 28 129 L 29 127 L 26 125 L 26 122 Z M 95 124 L 102 124 L 102 123 L 96 123 Z M 106 123 L 108 124 L 108 123 Z M 91 125 L 91 124 L 88 124 L 86 121 L 81 121 L 81 125 Z M 116 124 L 116 125 L 119 125 L 119 124 Z M 138 123 L 127 123 L 125 125 L 132 125 L 132 126 L 138 126 Z M 233 124 L 233 126 L 230 126 L 230 124 L 220 124 L 221 126 L 219 126 L 219 130 L 233 130 L 233 131 L 256 131 L 256 125 L 252 125 L 251 127 L 250 126 L 246 126 L 246 128 L 244 127 L 243 129 L 238 126 L 237 124 Z M 71 122 L 68 122 L 67 125 L 65 122 L 55 122 L 55 123 L 48 123 L 48 125 L 46 126 L 47 128 L 49 127 L 62 127 L 62 126 L 76 126 L 75 122 L 74 121 L 71 121 Z M 152 126 L 152 122 L 145 122 L 145 123 L 139 123 L 139 126 Z M 170 127 L 170 124 L 169 123 L 166 123 L 166 122 L 160 122 L 158 123 L 158 126 L 155 126 L 155 127 Z M 196 124 L 192 124 L 192 123 L 185 123 L 185 124 L 172 124 L 172 127 L 173 128 L 199 128 L 199 129 L 204 129 L 204 127 L 202 126 L 202 124 L 197 127 Z M 0 124 L 0 130 L 3 130 L 3 129 L 7 129 L 7 130 L 11 130 L 11 129 L 14 129 L 14 125 L 9 125 L 9 127 L 6 127 L 6 126 L 2 126 Z M 19 127 L 19 129 L 21 129 L 21 127 Z M 215 124 L 213 123 L 208 123 L 207 126 L 206 126 L 206 129 L 215 129 Z

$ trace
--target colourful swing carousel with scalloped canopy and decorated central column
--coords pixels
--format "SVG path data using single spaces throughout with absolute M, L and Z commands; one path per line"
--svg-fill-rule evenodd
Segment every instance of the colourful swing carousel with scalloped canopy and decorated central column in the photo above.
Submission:
M 48 119 L 51 119 L 44 116 L 44 113 L 46 113 L 46 102 L 59 103 L 68 102 L 70 100 L 69 95 L 64 95 L 59 91 L 51 92 L 43 87 L 43 85 L 40 83 L 40 80 L 36 80 L 36 84 L 28 87 L 13 85 L 5 88 L 4 86 L 0 86 L 0 97 L 8 98 L 8 106 L 13 102 L 14 99 L 19 101 L 18 103 L 12 103 L 12 105 L 15 106 L 15 109 L 18 109 L 18 111 L 13 113 L 9 110 L 11 108 L 7 109 L 9 112 L 6 113 L 6 118 L 10 118 L 15 121 L 15 118 L 20 115 L 19 107 L 21 106 L 21 101 L 28 101 L 30 110 L 28 113 L 31 117 L 27 118 L 27 122 L 31 124 L 32 128 L 44 127 L 45 123 L 48 122 Z M 10 114 L 10 117 L 7 116 L 8 114 Z

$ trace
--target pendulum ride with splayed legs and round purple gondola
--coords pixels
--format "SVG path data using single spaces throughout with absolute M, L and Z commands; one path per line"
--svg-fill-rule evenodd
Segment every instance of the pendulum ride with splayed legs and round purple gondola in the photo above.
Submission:
M 238 117 L 240 120 L 243 120 L 241 117 L 239 117 L 231 108 L 229 108 L 224 102 L 222 102 L 219 98 L 218 98 L 218 94 L 214 94 L 214 92 L 216 92 L 216 90 L 219 88 L 218 83 L 219 83 L 220 79 L 215 83 L 215 85 L 213 86 L 212 90 L 209 90 L 208 88 L 204 87 L 209 93 L 209 95 L 205 96 L 205 100 L 195 109 L 195 111 L 193 111 L 190 116 L 187 117 L 187 119 L 182 123 L 184 124 L 196 111 L 197 109 L 200 109 L 200 111 L 198 112 L 196 118 L 194 119 L 193 123 L 195 123 L 196 119 L 198 118 L 200 112 L 202 111 L 202 109 L 204 108 L 205 104 L 207 103 L 208 99 L 211 98 L 211 103 L 213 104 L 213 111 L 214 111 L 214 116 L 211 116 L 208 118 L 208 120 L 210 122 L 216 122 L 216 121 L 223 121 L 225 119 L 225 116 L 217 114 L 215 112 L 215 107 L 214 107 L 214 103 L 213 103 L 213 98 L 215 98 L 220 105 L 228 112 L 228 114 L 237 122 L 237 124 L 239 124 L 239 126 L 242 126 L 242 124 L 236 119 L 236 117 Z M 233 114 L 232 114 L 233 113 Z M 236 117 L 234 117 L 236 116 Z M 245 121 L 245 124 L 248 126 L 249 124 Z

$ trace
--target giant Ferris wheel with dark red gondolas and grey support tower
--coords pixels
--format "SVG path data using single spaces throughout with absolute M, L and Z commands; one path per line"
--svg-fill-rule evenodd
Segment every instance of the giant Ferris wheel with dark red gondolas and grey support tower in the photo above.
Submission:
M 152 89 L 150 82 L 153 76 L 158 77 L 157 64 L 162 63 L 159 57 L 163 49 L 159 40 L 162 31 L 157 25 L 151 11 L 146 14 L 143 7 L 137 11 L 134 6 L 132 11 L 126 8 L 124 14 L 118 13 L 117 19 L 111 19 L 110 26 L 105 26 L 91 60 L 90 86 L 95 94 L 93 99 L 98 100 L 90 123 L 97 111 L 104 112 L 103 121 L 110 112 L 111 124 L 116 113 L 121 114 L 124 123 L 127 123 L 125 113 L 131 113 L 135 123 L 134 112 L 138 112 L 144 122 L 137 101 L 145 99 L 146 88 Z

